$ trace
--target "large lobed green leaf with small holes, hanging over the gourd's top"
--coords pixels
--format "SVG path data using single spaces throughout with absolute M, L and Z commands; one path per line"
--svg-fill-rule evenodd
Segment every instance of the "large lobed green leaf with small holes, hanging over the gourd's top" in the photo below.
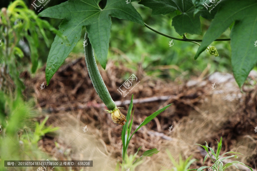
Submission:
M 100 1 L 69 0 L 39 13 L 41 17 L 63 19 L 59 31 L 66 38 L 66 40 L 63 40 L 57 35 L 51 46 L 46 66 L 47 84 L 79 41 L 82 26 L 86 26 L 95 55 L 105 68 L 109 48 L 111 17 L 144 25 L 141 16 L 131 3 L 127 4 L 124 0 L 107 0 L 106 6 L 101 9 L 98 5 Z M 81 46 L 83 47 L 82 44 Z

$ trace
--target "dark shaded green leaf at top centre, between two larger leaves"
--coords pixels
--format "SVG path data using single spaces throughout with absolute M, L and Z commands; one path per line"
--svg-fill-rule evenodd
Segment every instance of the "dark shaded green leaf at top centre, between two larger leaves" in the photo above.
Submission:
M 165 15 L 173 13 L 176 10 L 180 11 L 181 14 L 172 19 L 172 26 L 174 26 L 176 32 L 180 35 L 184 33 L 202 34 L 199 17 L 202 16 L 206 19 L 213 19 L 215 15 L 215 11 L 209 13 L 209 11 L 204 9 L 194 14 L 195 10 L 192 0 L 143 0 L 139 2 L 139 4 L 151 8 L 153 15 Z

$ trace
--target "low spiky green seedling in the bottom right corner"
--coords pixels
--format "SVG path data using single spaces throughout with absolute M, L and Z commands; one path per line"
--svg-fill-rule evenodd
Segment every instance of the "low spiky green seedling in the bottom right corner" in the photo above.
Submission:
M 217 141 L 217 140 L 216 140 L 216 141 Z M 203 164 L 204 164 L 204 162 L 205 162 L 205 160 L 206 160 L 206 158 L 207 158 L 208 156 L 210 156 L 210 158 L 211 158 L 211 160 L 212 160 L 212 162 L 213 162 L 214 164 L 213 164 L 211 167 L 210 167 L 210 166 L 202 166 L 202 167 L 200 167 L 200 168 L 198 168 L 198 169 L 191 169 L 191 170 L 203 171 L 202 169 L 204 169 L 204 168 L 209 168 L 208 170 L 211 170 L 211 171 L 212 171 L 212 170 L 224 171 L 226 168 L 228 168 L 228 167 L 230 167 L 230 166 L 233 166 L 233 165 L 234 165 L 237 169 L 239 169 L 236 164 L 242 164 L 242 165 L 248 167 L 251 171 L 253 171 L 251 167 L 249 167 L 249 166 L 247 166 L 247 165 L 245 165 L 244 163 L 239 162 L 239 161 L 232 161 L 232 162 L 228 162 L 228 163 L 226 163 L 225 165 L 223 165 L 223 162 L 222 162 L 222 161 L 224 161 L 225 159 L 227 159 L 227 158 L 232 158 L 232 157 L 238 158 L 238 156 L 237 156 L 237 155 L 231 155 L 231 156 L 227 156 L 227 157 L 222 157 L 222 156 L 224 156 L 225 154 L 228 154 L 228 153 L 234 153 L 234 154 L 241 154 L 241 153 L 229 151 L 229 152 L 226 152 L 226 153 L 224 153 L 224 154 L 222 154 L 222 155 L 220 156 L 220 150 L 221 150 L 221 147 L 222 147 L 222 137 L 220 137 L 220 142 L 217 141 L 218 147 L 217 147 L 216 153 L 214 152 L 214 150 L 213 150 L 211 147 L 209 147 L 209 146 L 207 145 L 207 142 L 206 142 L 206 141 L 205 141 L 205 143 L 206 143 L 205 146 L 204 146 L 204 145 L 200 145 L 200 144 L 196 144 L 196 145 L 199 145 L 199 146 L 203 147 L 204 150 L 207 152 L 206 156 L 204 157 Z M 209 150 L 210 150 L 210 151 L 209 151 Z M 213 160 L 213 158 L 212 158 L 211 155 L 214 156 L 214 157 L 213 157 L 214 160 Z M 243 154 L 241 154 L 241 155 L 243 155 Z

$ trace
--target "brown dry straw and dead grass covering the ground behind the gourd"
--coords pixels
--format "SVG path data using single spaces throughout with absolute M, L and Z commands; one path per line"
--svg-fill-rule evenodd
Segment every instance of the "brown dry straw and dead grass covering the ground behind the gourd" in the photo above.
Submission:
M 198 168 L 202 166 L 204 154 L 194 144 L 207 141 L 215 150 L 215 139 L 219 141 L 221 136 L 221 154 L 231 150 L 240 152 L 244 156 L 239 155 L 238 160 L 256 169 L 256 86 L 245 88 L 247 92 L 241 93 L 233 76 L 226 74 L 223 77 L 219 73 L 210 76 L 209 80 L 200 76 L 188 82 L 179 77 L 175 82 L 164 81 L 147 76 L 141 68 L 138 66 L 138 72 L 134 73 L 140 84 L 131 93 L 134 99 L 150 98 L 152 101 L 134 104 L 132 130 L 154 111 L 169 103 L 173 105 L 144 126 L 130 141 L 128 154 L 134 154 L 140 146 L 139 156 L 151 148 L 160 150 L 158 154 L 146 157 L 136 170 L 165 170 L 161 166 L 171 169 L 166 149 L 174 158 L 178 158 L 178 154 L 184 158 L 194 155 L 199 161 L 191 168 Z M 59 160 L 93 160 L 93 168 L 85 170 L 114 170 L 117 161 L 121 160 L 122 127 L 113 123 L 111 115 L 100 105 L 101 100 L 91 84 L 84 58 L 63 65 L 50 85 L 41 90 L 40 84 L 46 83 L 44 70 L 41 69 L 35 78 L 23 73 L 27 87 L 25 96 L 30 98 L 35 93 L 37 108 L 42 111 L 39 121 L 49 115 L 47 125 L 60 127 L 59 135 L 46 135 L 39 146 Z M 114 101 L 131 98 L 131 93 L 122 97 L 117 88 L 124 82 L 121 76 L 126 72 L 132 74 L 132 70 L 121 65 L 117 67 L 109 61 L 107 69 L 100 72 Z M 211 88 L 214 82 L 216 89 Z M 167 95 L 170 95 L 169 99 L 153 98 Z M 121 111 L 126 114 L 128 105 L 119 107 L 124 107 Z M 83 133 L 85 125 L 88 131 Z M 168 128 L 171 125 L 174 131 L 170 133 Z M 207 159 L 206 164 L 211 166 L 211 160 Z

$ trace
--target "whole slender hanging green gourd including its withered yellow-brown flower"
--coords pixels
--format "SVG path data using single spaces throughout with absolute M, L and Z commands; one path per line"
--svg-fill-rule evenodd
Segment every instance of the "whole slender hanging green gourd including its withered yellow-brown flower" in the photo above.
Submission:
M 85 40 L 87 40 L 87 43 L 88 43 L 87 46 L 84 46 L 85 60 L 87 64 L 89 77 L 95 88 L 95 91 L 97 92 L 98 96 L 103 101 L 103 103 L 105 103 L 106 107 L 109 109 L 106 111 L 108 113 L 111 113 L 113 122 L 118 123 L 120 125 L 124 125 L 125 124 L 124 121 L 127 122 L 127 120 L 125 116 L 121 113 L 121 111 L 118 109 L 119 107 L 117 107 L 116 104 L 114 103 L 107 87 L 105 86 L 103 78 L 97 68 L 97 64 L 94 56 L 94 50 L 88 38 L 87 32 L 84 37 L 84 41 Z

